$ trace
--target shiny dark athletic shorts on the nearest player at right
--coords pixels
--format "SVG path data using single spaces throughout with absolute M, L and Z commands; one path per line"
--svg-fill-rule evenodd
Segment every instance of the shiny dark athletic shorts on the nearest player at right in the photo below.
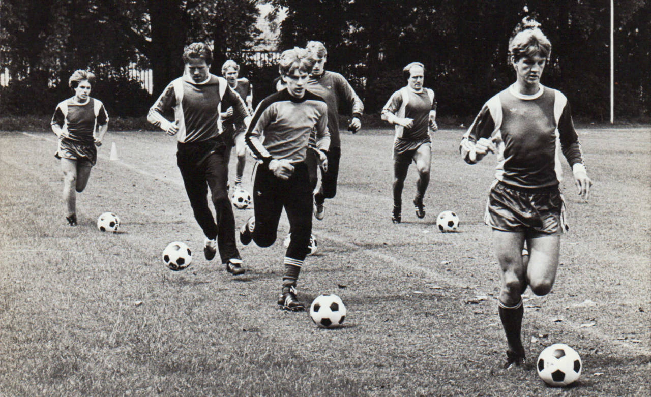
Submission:
M 558 186 L 527 189 L 495 181 L 490 189 L 484 223 L 527 237 L 560 236 L 568 230 L 565 203 Z

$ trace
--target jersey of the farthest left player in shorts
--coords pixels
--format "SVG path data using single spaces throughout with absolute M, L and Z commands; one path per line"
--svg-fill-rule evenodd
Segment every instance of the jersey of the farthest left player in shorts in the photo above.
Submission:
M 88 98 L 78 103 L 75 97 L 68 98 L 57 105 L 50 124 L 57 124 L 68 131 L 66 139 L 83 144 L 93 144 L 96 126 L 109 122 L 109 115 L 102 102 Z

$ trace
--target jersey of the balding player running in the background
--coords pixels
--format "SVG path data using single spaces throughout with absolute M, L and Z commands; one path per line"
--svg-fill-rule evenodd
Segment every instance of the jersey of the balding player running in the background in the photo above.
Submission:
M 396 117 L 413 119 L 413 126 L 405 128 L 396 124 L 396 139 L 424 141 L 430 137 L 430 111 L 436 111 L 436 97 L 431 89 L 419 92 L 407 87 L 391 95 L 382 113 L 388 112 Z

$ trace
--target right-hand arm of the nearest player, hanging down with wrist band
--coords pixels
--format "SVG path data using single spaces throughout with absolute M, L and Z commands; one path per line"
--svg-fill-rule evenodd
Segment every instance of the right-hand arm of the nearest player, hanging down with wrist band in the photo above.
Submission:
M 572 174 L 574 175 L 574 182 L 579 190 L 579 195 L 585 200 L 590 196 L 590 187 L 592 180 L 588 176 L 583 162 L 583 153 L 581 152 L 581 143 L 579 143 L 579 135 L 574 129 L 574 121 L 572 121 L 572 111 L 570 110 L 570 103 L 566 102 L 561 118 L 559 118 L 559 141 L 561 141 L 561 152 L 567 159 L 570 167 L 572 167 Z

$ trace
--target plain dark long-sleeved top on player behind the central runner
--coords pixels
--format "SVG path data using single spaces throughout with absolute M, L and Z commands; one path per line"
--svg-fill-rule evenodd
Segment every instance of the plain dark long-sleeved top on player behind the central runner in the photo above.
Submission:
M 348 84 L 344 76 L 326 70 L 318 77 L 310 77 L 307 81 L 307 90 L 326 100 L 327 104 L 327 129 L 330 132 L 330 146 L 341 146 L 339 138 L 339 111 L 349 113 L 353 117 L 361 118 L 364 104 L 355 94 L 353 87 Z

